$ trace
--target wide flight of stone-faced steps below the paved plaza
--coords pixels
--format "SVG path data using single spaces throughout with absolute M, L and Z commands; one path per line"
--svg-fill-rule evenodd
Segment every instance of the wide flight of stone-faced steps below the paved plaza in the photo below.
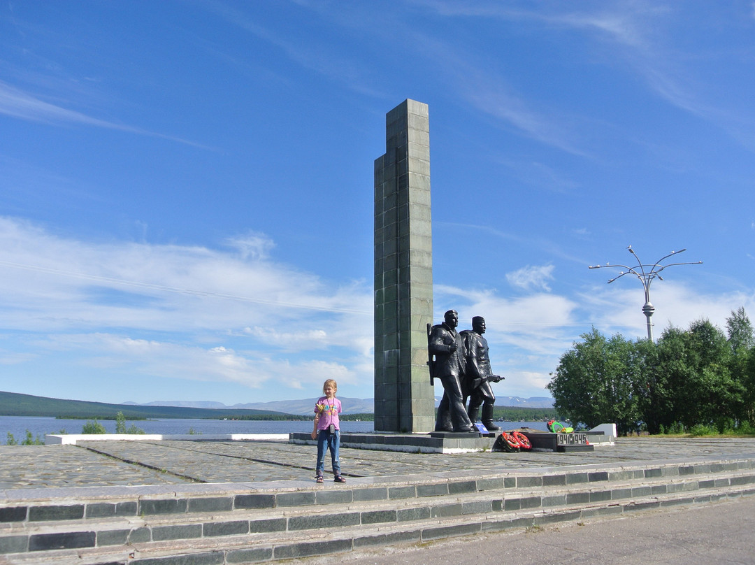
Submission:
M 0 507 L 0 563 L 173 565 L 186 563 L 182 559 L 188 555 L 191 563 L 251 563 L 420 542 L 749 496 L 755 493 L 755 462 L 594 465 L 247 487 L 17 492 L 13 502 Z

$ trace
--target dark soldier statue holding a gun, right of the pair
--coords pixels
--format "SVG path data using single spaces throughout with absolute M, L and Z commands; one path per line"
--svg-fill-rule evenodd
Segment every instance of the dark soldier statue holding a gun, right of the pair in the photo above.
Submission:
M 482 337 L 485 333 L 485 318 L 474 316 L 472 318 L 472 329 L 465 329 L 460 332 L 462 343 L 464 344 L 464 354 L 466 363 L 464 363 L 464 402 L 470 397 L 470 406 L 467 411 L 470 421 L 477 421 L 479 417 L 479 407 L 482 406 L 482 424 L 488 431 L 500 430 L 493 423 L 493 405 L 495 404 L 495 394 L 490 386 L 492 382 L 498 382 L 503 379 L 499 375 L 493 375 L 490 368 L 490 357 L 488 355 L 488 340 Z

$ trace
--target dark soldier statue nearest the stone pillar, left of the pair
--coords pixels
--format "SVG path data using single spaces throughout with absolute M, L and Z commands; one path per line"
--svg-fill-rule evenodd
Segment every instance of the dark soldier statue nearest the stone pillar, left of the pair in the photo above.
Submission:
M 442 324 L 430 328 L 427 337 L 427 353 L 430 355 L 430 384 L 433 383 L 433 378 L 439 378 L 443 384 L 443 397 L 438 406 L 435 430 L 476 431 L 467 415 L 467 410 L 464 409 L 464 396 L 461 391 L 464 344 L 456 331 L 459 315 L 456 310 L 448 310 L 443 318 Z

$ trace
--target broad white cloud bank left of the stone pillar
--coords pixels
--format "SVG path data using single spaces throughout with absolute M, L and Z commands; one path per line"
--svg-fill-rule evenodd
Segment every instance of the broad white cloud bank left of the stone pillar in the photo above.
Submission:
M 270 249 L 263 234 L 247 249 Z M 244 255 L 244 253 L 242 253 Z M 0 218 L 0 364 L 78 366 L 319 390 L 371 381 L 371 289 L 322 282 L 253 251 L 85 242 Z M 73 360 L 73 361 L 71 361 Z M 348 364 L 348 367 L 347 367 Z M 0 375 L 2 378 L 2 375 Z

